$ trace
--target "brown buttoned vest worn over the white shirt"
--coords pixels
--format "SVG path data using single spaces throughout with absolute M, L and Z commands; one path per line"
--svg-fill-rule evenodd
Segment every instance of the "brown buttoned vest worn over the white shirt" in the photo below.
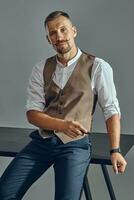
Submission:
M 60 119 L 78 121 L 90 131 L 94 107 L 94 95 L 91 88 L 91 70 L 94 59 L 94 56 L 82 53 L 63 89 L 53 81 L 57 64 L 56 56 L 46 60 L 43 72 L 46 100 L 44 112 L 46 114 Z M 49 134 L 49 131 L 44 130 L 43 132 Z M 72 139 L 62 132 L 55 132 L 55 134 L 64 143 L 85 136 Z

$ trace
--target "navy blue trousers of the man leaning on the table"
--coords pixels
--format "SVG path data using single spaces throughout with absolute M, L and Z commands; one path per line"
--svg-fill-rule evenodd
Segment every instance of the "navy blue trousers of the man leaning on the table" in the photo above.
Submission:
M 57 136 L 43 139 L 38 131 L 32 132 L 31 138 L 0 178 L 0 200 L 22 199 L 29 187 L 52 165 L 55 200 L 79 200 L 91 159 L 89 136 L 66 144 Z

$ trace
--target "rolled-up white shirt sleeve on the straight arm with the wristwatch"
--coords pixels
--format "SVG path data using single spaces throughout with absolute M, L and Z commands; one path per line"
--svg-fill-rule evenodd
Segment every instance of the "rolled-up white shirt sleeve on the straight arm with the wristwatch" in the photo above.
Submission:
M 98 103 L 105 120 L 115 114 L 121 115 L 111 66 L 97 58 L 94 68 L 94 91 L 98 96 Z

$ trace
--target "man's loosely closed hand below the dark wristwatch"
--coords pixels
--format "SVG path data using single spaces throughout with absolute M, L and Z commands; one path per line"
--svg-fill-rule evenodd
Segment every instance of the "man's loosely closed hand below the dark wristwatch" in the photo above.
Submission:
M 125 171 L 127 162 L 120 153 L 112 153 L 111 162 L 113 165 L 113 170 L 116 174 L 123 173 Z

